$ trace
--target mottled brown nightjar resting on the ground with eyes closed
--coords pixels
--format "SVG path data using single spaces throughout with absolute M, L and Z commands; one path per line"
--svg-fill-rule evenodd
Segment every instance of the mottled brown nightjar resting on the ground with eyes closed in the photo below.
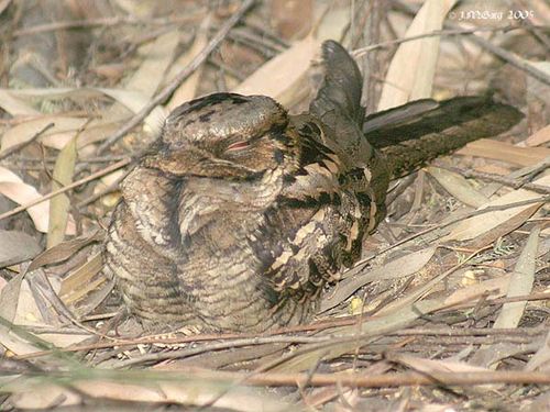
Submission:
M 479 97 L 365 118 L 354 60 L 330 41 L 322 57 L 306 114 L 215 93 L 166 119 L 121 183 L 106 243 L 105 270 L 131 313 L 211 332 L 306 322 L 323 285 L 360 257 L 392 179 L 520 119 Z

